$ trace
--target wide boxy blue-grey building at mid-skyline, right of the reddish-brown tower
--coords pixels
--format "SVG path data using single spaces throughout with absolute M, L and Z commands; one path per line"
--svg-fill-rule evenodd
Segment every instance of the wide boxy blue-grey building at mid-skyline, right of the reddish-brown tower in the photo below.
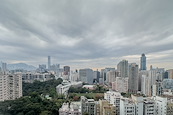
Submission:
M 93 70 L 92 69 L 80 69 L 79 79 L 88 84 L 93 84 Z

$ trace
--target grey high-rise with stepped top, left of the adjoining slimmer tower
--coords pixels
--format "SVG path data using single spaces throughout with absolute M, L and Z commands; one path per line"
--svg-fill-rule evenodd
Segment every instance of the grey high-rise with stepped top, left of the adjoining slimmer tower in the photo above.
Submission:
M 117 65 L 117 70 L 120 72 L 121 77 L 128 77 L 128 61 L 120 61 Z

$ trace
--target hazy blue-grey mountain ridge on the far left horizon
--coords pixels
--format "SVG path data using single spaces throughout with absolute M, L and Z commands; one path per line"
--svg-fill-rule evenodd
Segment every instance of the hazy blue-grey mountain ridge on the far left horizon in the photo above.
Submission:
M 7 65 L 8 70 L 15 70 L 15 69 L 24 69 L 24 70 L 36 70 L 36 67 L 32 65 L 28 65 L 26 63 L 15 63 L 15 64 L 8 64 Z

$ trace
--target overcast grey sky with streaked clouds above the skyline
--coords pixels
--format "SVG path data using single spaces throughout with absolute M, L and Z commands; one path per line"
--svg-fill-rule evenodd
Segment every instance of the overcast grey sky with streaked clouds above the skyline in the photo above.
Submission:
M 173 0 L 0 0 L 0 61 L 173 68 Z

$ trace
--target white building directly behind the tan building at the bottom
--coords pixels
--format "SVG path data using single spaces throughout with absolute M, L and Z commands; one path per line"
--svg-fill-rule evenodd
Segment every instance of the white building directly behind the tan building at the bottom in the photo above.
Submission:
M 104 93 L 104 99 L 116 107 L 117 115 L 120 114 L 120 99 L 121 98 L 122 98 L 122 96 L 119 92 L 108 91 L 108 92 Z

